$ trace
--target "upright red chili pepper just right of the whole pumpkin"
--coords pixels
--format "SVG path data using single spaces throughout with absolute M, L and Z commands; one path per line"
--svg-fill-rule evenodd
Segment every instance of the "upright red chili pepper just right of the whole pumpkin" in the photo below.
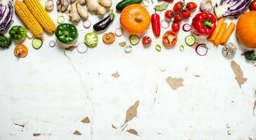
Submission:
M 160 16 L 157 13 L 151 15 L 151 24 L 153 33 L 156 37 L 159 37 L 161 34 L 161 25 L 160 25 Z

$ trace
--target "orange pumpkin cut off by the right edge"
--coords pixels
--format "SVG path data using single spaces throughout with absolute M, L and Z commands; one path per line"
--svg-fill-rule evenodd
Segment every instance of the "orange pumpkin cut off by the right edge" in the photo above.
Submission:
M 256 11 L 245 13 L 236 24 L 236 36 L 248 48 L 256 48 Z

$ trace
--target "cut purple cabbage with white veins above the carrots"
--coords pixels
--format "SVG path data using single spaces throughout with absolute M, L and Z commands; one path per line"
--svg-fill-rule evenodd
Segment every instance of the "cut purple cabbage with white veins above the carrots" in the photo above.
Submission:
M 217 18 L 233 16 L 237 17 L 243 13 L 250 5 L 252 0 L 221 0 L 219 4 L 215 5 L 215 15 Z

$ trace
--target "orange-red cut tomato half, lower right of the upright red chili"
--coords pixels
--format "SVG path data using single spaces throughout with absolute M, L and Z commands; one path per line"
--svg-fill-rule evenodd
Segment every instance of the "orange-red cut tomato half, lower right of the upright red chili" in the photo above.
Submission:
M 166 48 L 172 48 L 178 41 L 177 34 L 174 31 L 166 31 L 162 36 L 162 43 L 165 44 Z

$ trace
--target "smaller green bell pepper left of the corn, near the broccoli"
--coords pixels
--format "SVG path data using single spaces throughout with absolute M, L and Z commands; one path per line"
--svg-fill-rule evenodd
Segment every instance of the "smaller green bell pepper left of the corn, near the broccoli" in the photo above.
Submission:
M 11 38 L 16 41 L 24 41 L 27 36 L 27 30 L 23 26 L 13 26 L 11 27 L 9 34 Z

